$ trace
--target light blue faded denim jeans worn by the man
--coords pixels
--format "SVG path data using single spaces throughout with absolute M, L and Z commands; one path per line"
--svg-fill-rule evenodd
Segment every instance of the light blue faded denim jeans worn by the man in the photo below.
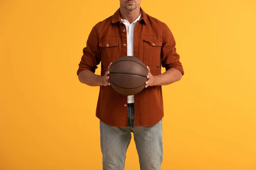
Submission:
M 163 161 L 162 120 L 150 127 L 113 127 L 100 121 L 103 170 L 124 170 L 131 132 L 134 133 L 140 170 L 161 170 Z

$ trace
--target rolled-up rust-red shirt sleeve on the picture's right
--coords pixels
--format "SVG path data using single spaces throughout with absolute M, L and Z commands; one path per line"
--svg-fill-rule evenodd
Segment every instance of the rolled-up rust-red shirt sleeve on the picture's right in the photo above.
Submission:
M 163 45 L 161 49 L 162 66 L 166 71 L 170 68 L 179 70 L 184 75 L 183 66 L 180 62 L 180 55 L 176 52 L 176 42 L 172 35 L 171 30 L 165 24 L 166 31 L 163 37 Z

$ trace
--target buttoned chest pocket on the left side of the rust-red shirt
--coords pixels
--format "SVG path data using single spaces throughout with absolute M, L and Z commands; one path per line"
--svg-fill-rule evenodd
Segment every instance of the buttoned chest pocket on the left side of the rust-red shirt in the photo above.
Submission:
M 118 56 L 118 41 L 105 40 L 99 43 L 101 62 L 104 67 L 108 67 Z

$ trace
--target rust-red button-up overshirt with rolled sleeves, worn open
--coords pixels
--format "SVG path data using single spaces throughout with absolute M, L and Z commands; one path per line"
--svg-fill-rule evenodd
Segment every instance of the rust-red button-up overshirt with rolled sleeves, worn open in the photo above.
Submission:
M 169 27 L 146 14 L 142 8 L 140 10 L 141 18 L 134 28 L 134 57 L 148 65 L 153 75 L 161 74 L 162 66 L 166 71 L 176 68 L 184 74 Z M 111 62 L 127 56 L 127 33 L 124 29 L 120 9 L 97 23 L 83 49 L 77 75 L 82 70 L 95 73 L 100 62 L 101 75 L 104 75 Z M 164 115 L 161 86 L 149 86 L 135 94 L 134 107 L 134 126 L 152 126 L 159 122 Z M 127 96 L 118 94 L 111 86 L 100 86 L 96 116 L 107 125 L 127 127 Z

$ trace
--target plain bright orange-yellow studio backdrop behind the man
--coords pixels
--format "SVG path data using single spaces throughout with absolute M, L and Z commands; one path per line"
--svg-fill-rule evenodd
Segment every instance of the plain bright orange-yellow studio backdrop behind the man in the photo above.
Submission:
M 256 2 L 141 6 L 172 30 L 185 70 L 163 86 L 162 169 L 256 170 Z M 118 7 L 1 0 L 0 170 L 102 169 L 99 87 L 81 84 L 76 71 L 91 28 Z M 132 138 L 125 170 L 138 169 Z

